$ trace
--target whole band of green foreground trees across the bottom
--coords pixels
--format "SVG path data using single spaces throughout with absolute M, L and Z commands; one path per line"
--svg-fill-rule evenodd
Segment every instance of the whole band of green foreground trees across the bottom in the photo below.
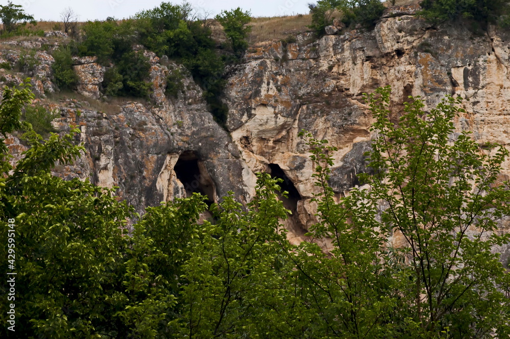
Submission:
M 454 134 L 464 112 L 452 97 L 428 112 L 420 99 L 405 102 L 394 124 L 389 88 L 377 93 L 366 96 L 375 120 L 367 186 L 338 200 L 327 184 L 336 148 L 302 134 L 319 188 L 307 235 L 332 241 L 324 253 L 287 241 L 288 211 L 268 174 L 246 207 L 229 194 L 203 223 L 197 194 L 139 218 L 115 188 L 51 175 L 84 150 L 79 129 L 41 142 L 19 121 L 33 95 L 6 89 L 0 255 L 16 272 L 16 336 L 508 337 L 510 273 L 492 251 L 510 241 L 496 229 L 510 216 L 508 182 L 498 181 L 508 151 Z M 13 167 L 5 138 L 20 128 L 30 148 Z M 127 234 L 130 219 L 139 220 Z

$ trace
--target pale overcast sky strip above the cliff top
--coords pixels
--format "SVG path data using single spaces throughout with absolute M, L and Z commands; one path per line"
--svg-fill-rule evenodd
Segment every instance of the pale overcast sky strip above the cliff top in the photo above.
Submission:
M 60 13 L 70 7 L 80 16 L 80 21 L 104 20 L 109 16 L 122 19 L 130 17 L 143 9 L 151 9 L 161 4 L 161 0 L 12 0 L 13 4 L 22 5 L 25 12 L 36 20 L 59 20 Z M 214 16 L 222 10 L 241 7 L 250 10 L 252 16 L 279 16 L 308 13 L 309 2 L 314 0 L 189 0 L 195 8 Z M 182 1 L 171 1 L 180 4 Z M 7 0 L 0 0 L 6 5 Z

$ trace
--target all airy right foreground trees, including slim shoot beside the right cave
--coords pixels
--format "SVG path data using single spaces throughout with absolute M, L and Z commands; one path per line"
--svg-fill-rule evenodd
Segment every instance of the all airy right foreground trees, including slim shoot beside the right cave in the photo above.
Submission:
M 447 97 L 427 113 L 415 98 L 394 124 L 390 89 L 377 93 L 367 96 L 375 174 L 361 180 L 369 188 L 335 203 L 327 185 L 334 148 L 308 135 L 323 189 L 311 235 L 335 245 L 331 257 L 312 244 L 297 252 L 311 291 L 322 295 L 316 308 L 331 331 L 352 337 L 507 337 L 510 273 L 492 249 L 510 241 L 497 230 L 510 215 L 508 182 L 498 184 L 508 151 L 454 133 L 460 100 Z

